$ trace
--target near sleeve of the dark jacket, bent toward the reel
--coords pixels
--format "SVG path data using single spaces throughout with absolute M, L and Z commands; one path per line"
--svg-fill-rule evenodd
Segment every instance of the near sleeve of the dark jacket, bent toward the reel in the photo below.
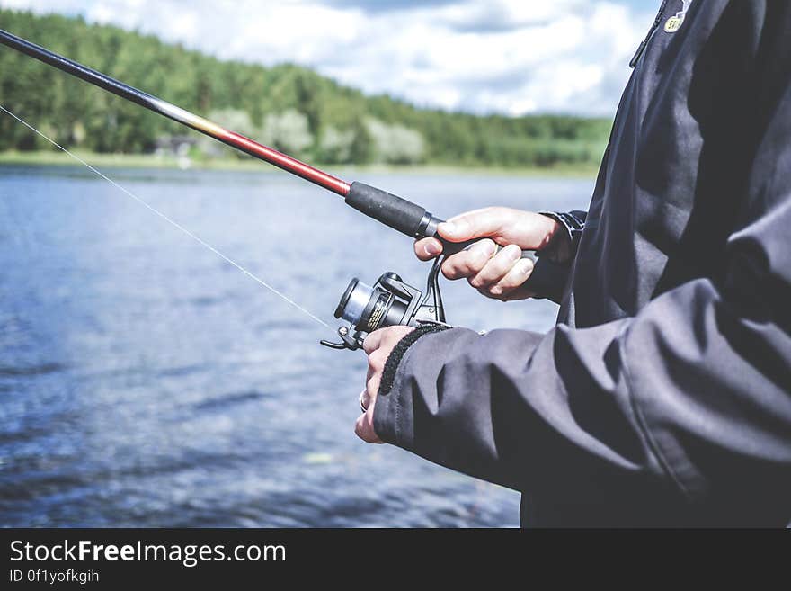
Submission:
M 392 388 L 376 405 L 379 436 L 520 490 L 582 495 L 591 481 L 640 483 L 684 502 L 787 511 L 787 84 L 756 142 L 716 277 L 681 284 L 635 317 L 597 327 L 422 336 L 393 363 Z

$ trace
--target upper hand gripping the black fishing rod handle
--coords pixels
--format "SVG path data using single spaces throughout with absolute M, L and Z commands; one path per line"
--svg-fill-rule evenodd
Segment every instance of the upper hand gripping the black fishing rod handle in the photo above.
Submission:
M 533 263 L 521 258 L 522 250 L 538 250 L 549 244 L 560 225 L 547 216 L 506 207 L 467 211 L 440 224 L 441 237 L 463 242 L 485 237 L 468 250 L 450 255 L 442 264 L 448 279 L 467 279 L 477 291 L 495 300 L 522 300 L 533 294 L 522 283 L 533 271 Z M 505 246 L 494 255 L 496 244 Z M 442 253 L 436 238 L 414 243 L 414 253 L 428 261 Z

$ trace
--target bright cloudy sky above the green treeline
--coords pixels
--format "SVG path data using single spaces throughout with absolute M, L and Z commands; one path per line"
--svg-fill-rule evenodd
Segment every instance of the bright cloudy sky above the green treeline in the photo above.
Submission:
M 611 115 L 659 0 L 0 0 L 467 112 Z

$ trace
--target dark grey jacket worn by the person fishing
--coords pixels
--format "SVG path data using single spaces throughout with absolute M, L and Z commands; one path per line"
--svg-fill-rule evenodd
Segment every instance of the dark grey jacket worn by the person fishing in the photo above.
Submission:
M 526 525 L 791 522 L 791 3 L 698 0 L 666 31 L 680 10 L 618 106 L 557 326 L 388 363 L 377 433 L 522 491 Z

